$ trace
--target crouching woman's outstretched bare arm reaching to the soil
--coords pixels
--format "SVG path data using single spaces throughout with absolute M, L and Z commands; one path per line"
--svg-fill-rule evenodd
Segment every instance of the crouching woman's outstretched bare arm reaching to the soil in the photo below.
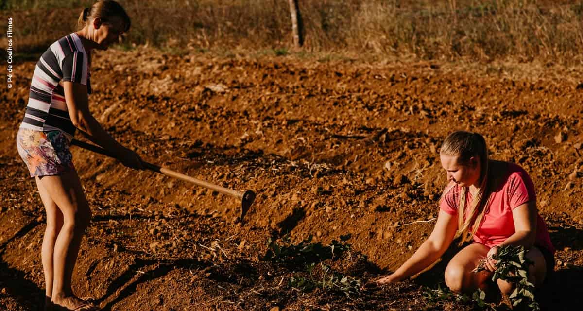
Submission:
M 423 271 L 433 264 L 454 240 L 455 232 L 458 229 L 457 216 L 440 211 L 437 216 L 437 223 L 431 235 L 415 254 L 401 265 L 393 274 L 379 279 L 379 284 L 402 281 Z

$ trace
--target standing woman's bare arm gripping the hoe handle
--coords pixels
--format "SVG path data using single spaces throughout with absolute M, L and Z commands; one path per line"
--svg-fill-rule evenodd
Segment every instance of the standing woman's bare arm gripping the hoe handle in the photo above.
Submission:
M 63 82 L 65 90 L 65 102 L 71 122 L 80 131 L 85 132 L 90 140 L 105 149 L 113 151 L 118 155 L 118 159 L 124 165 L 135 169 L 142 169 L 142 159 L 128 148 L 119 144 L 109 135 L 101 124 L 93 117 L 89 111 L 89 100 L 87 98 L 87 86 L 81 83 Z

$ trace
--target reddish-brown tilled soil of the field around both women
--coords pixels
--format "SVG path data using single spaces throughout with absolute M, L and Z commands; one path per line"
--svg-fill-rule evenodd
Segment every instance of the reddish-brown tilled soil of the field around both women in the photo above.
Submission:
M 105 310 L 467 309 L 421 298 L 454 249 L 413 281 L 350 298 L 297 291 L 289 282 L 303 267 L 263 260 L 270 237 L 328 244 L 351 233 L 335 271 L 366 282 L 394 270 L 433 228 L 407 223 L 437 215 L 437 148 L 455 129 L 484 134 L 493 158 L 535 182 L 559 250 L 543 308 L 571 309 L 583 294 L 580 68 L 145 48 L 93 63 L 90 105 L 114 137 L 149 162 L 258 194 L 241 225 L 232 198 L 73 147 L 93 210 L 73 286 Z M 44 211 L 15 148 L 33 69 L 18 64 L 15 88 L 1 91 L 2 310 L 36 309 L 44 293 Z

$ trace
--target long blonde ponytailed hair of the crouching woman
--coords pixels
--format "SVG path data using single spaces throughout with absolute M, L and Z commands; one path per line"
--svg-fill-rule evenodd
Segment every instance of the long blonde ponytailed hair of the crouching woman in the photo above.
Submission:
M 480 160 L 480 187 L 473 197 L 472 202 L 470 202 L 468 212 L 466 212 L 466 197 L 468 196 L 469 187 L 461 187 L 459 194 L 458 231 L 455 236 L 461 237 L 459 245 L 462 245 L 476 233 L 477 228 L 484 218 L 485 207 L 490 200 L 491 178 L 489 176 L 486 139 L 477 133 L 456 131 L 445 138 L 445 141 L 441 145 L 440 153 L 442 155 L 458 156 L 458 163 L 460 165 L 469 165 L 469 160 L 472 156 Z

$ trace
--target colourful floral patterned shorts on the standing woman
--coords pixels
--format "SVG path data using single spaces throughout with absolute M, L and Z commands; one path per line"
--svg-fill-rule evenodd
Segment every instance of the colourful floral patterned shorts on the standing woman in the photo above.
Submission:
M 75 170 L 69 141 L 63 132 L 41 132 L 20 128 L 16 135 L 16 148 L 29 167 L 30 177 L 58 175 Z

